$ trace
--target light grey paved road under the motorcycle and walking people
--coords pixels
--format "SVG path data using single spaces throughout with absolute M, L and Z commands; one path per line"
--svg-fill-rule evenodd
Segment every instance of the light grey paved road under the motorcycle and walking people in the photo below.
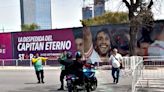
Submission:
M 45 84 L 37 84 L 33 69 L 1 69 L 0 92 L 58 92 L 59 75 L 59 69 L 47 69 L 45 70 Z M 98 88 L 95 92 L 131 92 L 130 77 L 121 77 L 119 84 L 113 84 L 109 70 L 98 70 L 96 76 Z

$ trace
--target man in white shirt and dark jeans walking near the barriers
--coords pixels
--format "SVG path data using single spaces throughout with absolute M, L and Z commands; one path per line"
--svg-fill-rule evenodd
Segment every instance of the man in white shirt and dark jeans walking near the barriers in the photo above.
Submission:
M 122 56 L 118 53 L 116 48 L 113 49 L 112 55 L 109 58 L 112 63 L 112 77 L 113 83 L 118 83 L 120 68 L 122 67 Z

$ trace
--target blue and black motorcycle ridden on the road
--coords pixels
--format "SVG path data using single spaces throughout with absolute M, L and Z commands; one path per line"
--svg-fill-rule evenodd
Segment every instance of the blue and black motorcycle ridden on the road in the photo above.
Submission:
M 95 68 L 83 68 L 84 81 L 79 82 L 79 78 L 74 74 L 66 76 L 68 92 L 78 92 L 79 86 L 87 92 L 96 90 L 97 78 L 95 76 Z

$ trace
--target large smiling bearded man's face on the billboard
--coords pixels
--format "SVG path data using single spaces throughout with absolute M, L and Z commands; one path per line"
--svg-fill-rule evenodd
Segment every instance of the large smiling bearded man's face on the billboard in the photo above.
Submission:
M 96 49 L 100 55 L 106 55 L 110 48 L 110 38 L 105 32 L 99 32 L 96 37 Z

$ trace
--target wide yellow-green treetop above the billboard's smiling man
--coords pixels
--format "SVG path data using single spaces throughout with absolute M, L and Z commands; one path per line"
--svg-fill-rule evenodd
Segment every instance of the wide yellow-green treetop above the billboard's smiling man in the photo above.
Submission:
M 107 12 L 102 16 L 94 17 L 92 19 L 81 20 L 86 26 L 103 25 L 103 24 L 117 24 L 127 23 L 128 13 L 126 12 Z

